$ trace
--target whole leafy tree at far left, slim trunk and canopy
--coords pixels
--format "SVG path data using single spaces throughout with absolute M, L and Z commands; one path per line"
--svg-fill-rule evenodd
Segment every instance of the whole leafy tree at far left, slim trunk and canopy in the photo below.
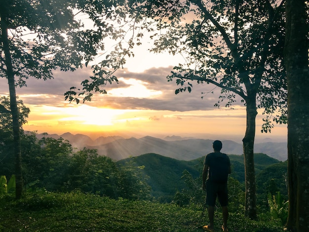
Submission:
M 121 0 L 119 1 L 121 2 Z M 99 49 L 104 49 L 103 39 L 121 37 L 108 20 L 120 22 L 125 14 L 118 9 L 118 1 L 103 0 L 2 0 L 0 7 L 0 76 L 6 77 L 9 86 L 10 110 L 14 138 L 16 198 L 23 192 L 19 113 L 16 86 L 26 86 L 26 80 L 53 78 L 52 71 L 75 71 L 93 60 Z M 93 29 L 84 27 L 75 12 L 89 16 Z M 104 92 L 100 86 L 116 80 L 112 71 L 122 62 L 122 47 L 98 65 L 93 66 L 95 91 Z M 125 54 L 128 51 L 125 51 Z M 88 81 L 89 82 L 89 81 Z M 87 83 L 88 83 L 87 82 Z M 92 85 L 88 83 L 87 90 Z M 73 98 L 70 98 L 73 100 Z

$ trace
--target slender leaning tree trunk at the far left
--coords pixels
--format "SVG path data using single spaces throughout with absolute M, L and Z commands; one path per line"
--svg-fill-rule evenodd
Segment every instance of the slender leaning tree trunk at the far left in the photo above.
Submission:
M 20 125 L 16 100 L 15 79 L 12 66 L 12 59 L 9 49 L 9 40 L 7 35 L 7 25 L 4 20 L 1 20 L 1 35 L 3 50 L 5 55 L 6 77 L 8 80 L 10 94 L 10 108 L 13 121 L 13 143 L 15 154 L 15 177 L 16 177 L 16 198 L 19 199 L 23 193 L 23 176 L 21 168 L 21 147 L 20 147 Z

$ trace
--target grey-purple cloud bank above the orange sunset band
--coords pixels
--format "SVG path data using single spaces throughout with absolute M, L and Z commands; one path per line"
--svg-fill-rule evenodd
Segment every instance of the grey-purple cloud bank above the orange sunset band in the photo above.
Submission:
M 186 91 L 176 95 L 175 89 L 179 86 L 175 81 L 168 82 L 166 79 L 172 69 L 172 66 L 150 68 L 142 73 L 129 72 L 128 69 L 118 70 L 115 76 L 118 77 L 119 83 L 107 84 L 108 94 L 96 93 L 93 100 L 85 104 L 113 109 L 179 112 L 215 109 L 214 104 L 218 102 L 220 88 L 215 88 L 213 91 L 214 85 L 193 83 L 191 93 Z M 27 87 L 17 88 L 16 92 L 25 104 L 67 107 L 68 102 L 64 101 L 64 93 L 71 86 L 81 87 L 80 82 L 91 75 L 90 68 L 79 69 L 73 73 L 56 70 L 54 79 L 44 81 L 29 78 Z M 135 80 L 135 82 L 129 82 L 129 79 Z M 5 81 L 5 78 L 0 79 L 0 95 L 8 93 Z M 138 85 L 140 88 L 137 88 Z M 201 94 L 212 91 L 214 93 Z

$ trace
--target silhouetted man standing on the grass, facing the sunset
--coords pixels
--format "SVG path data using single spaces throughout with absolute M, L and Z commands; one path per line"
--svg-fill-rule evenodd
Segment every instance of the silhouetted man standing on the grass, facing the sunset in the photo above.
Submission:
M 209 224 L 203 226 L 205 231 L 214 231 L 214 213 L 216 199 L 220 202 L 223 214 L 224 232 L 228 231 L 228 177 L 231 173 L 231 161 L 228 155 L 221 153 L 222 142 L 213 142 L 214 152 L 205 156 L 203 168 L 203 190 L 206 191 Z M 207 181 L 206 181 L 207 180 Z

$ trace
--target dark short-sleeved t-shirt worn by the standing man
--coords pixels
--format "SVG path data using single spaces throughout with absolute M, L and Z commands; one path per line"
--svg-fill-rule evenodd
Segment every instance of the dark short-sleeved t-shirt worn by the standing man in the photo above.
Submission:
M 228 155 L 220 152 L 209 153 L 205 156 L 205 164 L 209 166 L 209 181 L 217 183 L 226 183 L 228 181 L 231 166 Z

